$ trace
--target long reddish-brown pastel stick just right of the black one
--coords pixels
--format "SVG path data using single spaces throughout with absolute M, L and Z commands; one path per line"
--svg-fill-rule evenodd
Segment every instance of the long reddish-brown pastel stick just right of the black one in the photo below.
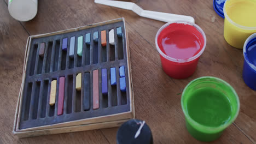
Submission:
M 98 102 L 98 69 L 92 71 L 93 74 L 93 82 L 92 82 L 92 86 L 93 86 L 93 106 L 92 109 L 98 109 L 99 106 L 99 102 Z

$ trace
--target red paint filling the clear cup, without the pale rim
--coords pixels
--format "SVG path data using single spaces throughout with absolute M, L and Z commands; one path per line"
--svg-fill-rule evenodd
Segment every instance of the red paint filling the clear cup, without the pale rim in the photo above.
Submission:
M 157 41 L 159 49 L 173 58 L 173 61 L 170 61 L 160 55 L 162 68 L 167 75 L 175 79 L 184 79 L 194 73 L 199 57 L 193 61 L 179 62 L 197 55 L 203 49 L 203 36 L 194 26 L 171 23 L 162 29 Z

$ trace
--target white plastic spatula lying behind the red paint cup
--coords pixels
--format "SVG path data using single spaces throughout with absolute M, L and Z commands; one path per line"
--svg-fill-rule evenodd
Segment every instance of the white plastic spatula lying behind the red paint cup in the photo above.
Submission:
M 157 11 L 143 10 L 137 4 L 132 2 L 120 2 L 120 1 L 109 1 L 109 0 L 95 0 L 95 3 L 109 5 L 112 7 L 117 7 L 121 9 L 132 10 L 136 14 L 142 17 L 147 17 L 149 19 L 164 21 L 164 22 L 173 22 L 173 21 L 189 21 L 195 23 L 195 20 L 191 16 L 185 15 L 176 15 L 176 14 L 168 14 L 161 13 Z

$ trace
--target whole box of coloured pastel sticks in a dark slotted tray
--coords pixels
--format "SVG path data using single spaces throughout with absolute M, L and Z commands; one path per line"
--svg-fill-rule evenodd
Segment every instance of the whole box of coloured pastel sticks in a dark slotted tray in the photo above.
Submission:
M 28 38 L 14 134 L 117 127 L 134 118 L 124 19 Z

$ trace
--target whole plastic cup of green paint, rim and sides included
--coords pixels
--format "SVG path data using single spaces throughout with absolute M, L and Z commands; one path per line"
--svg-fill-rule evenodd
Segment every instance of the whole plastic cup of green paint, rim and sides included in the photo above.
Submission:
M 214 141 L 235 121 L 240 101 L 234 88 L 217 77 L 199 77 L 185 87 L 181 99 L 189 133 L 200 141 Z

